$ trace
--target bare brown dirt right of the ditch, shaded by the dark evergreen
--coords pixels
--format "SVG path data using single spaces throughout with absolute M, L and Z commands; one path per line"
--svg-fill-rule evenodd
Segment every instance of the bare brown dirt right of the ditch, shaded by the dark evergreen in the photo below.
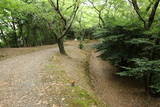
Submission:
M 116 69 L 97 56 L 93 52 L 90 58 L 90 73 L 97 95 L 109 107 L 160 107 L 160 99 L 148 96 L 141 83 L 116 76 Z

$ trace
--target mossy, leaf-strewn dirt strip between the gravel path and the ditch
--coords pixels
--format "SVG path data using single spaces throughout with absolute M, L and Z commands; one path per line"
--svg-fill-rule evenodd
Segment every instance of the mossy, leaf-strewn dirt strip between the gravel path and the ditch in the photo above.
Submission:
M 58 52 L 53 54 L 48 67 L 48 74 L 44 76 L 48 84 L 46 92 L 54 99 L 50 105 L 58 107 L 105 107 L 95 96 L 87 75 L 88 52 L 76 46 L 68 47 L 68 56 Z M 73 86 L 74 85 L 74 86 Z M 54 98 L 53 96 L 54 95 Z M 62 100 L 63 99 L 63 100 Z

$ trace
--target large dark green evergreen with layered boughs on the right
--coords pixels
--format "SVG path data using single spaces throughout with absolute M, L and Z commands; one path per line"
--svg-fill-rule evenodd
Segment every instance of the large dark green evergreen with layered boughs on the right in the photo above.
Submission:
M 121 16 L 121 15 L 120 15 Z M 105 26 L 94 33 L 101 39 L 97 50 L 104 60 L 119 68 L 120 76 L 144 79 L 152 94 L 160 93 L 160 30 L 154 24 L 150 30 L 132 15 L 106 17 Z M 122 16 L 121 16 L 122 17 Z M 127 19 L 125 17 L 128 17 Z M 134 17 L 134 16 L 133 16 Z M 147 78 L 147 79 L 146 79 Z

